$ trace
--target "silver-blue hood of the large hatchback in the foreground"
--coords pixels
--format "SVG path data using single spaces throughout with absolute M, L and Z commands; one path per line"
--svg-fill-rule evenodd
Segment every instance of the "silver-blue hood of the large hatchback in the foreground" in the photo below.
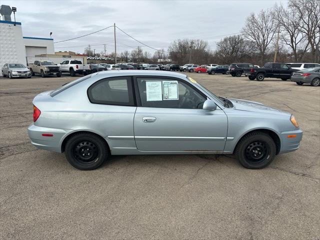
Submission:
M 277 108 L 267 106 L 259 102 L 247 101 L 247 100 L 229 98 L 229 97 L 226 97 L 226 98 L 232 102 L 234 108 L 237 110 L 262 112 L 262 113 L 270 113 L 270 114 L 277 114 L 277 115 L 291 115 L 291 113 L 289 112 L 281 111 Z

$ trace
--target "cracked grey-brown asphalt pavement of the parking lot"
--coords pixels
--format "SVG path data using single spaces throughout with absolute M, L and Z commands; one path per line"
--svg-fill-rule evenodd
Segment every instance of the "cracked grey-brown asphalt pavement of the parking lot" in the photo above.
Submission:
M 189 75 L 292 112 L 300 148 L 260 170 L 224 155 L 142 155 L 80 171 L 26 132 L 32 98 L 75 77 L 0 77 L 0 239 L 319 239 L 320 87 Z

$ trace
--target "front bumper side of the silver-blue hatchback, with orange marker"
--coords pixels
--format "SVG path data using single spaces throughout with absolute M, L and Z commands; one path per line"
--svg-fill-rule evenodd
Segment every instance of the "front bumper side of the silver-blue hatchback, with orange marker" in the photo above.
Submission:
M 302 139 L 302 130 L 297 129 L 294 131 L 283 131 L 280 133 L 281 148 L 279 154 L 295 151 L 299 148 Z M 296 135 L 295 137 L 288 137 L 288 135 Z

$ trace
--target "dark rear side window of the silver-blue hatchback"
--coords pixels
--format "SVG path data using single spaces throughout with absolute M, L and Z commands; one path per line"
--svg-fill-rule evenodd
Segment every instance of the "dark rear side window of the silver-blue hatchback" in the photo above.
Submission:
M 92 103 L 134 106 L 132 83 L 129 76 L 99 80 L 93 83 L 87 92 Z

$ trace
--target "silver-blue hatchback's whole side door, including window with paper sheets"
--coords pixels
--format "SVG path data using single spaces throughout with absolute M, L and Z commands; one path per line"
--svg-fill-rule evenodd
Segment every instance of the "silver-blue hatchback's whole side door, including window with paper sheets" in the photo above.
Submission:
M 177 78 L 137 77 L 134 138 L 141 151 L 223 151 L 227 117 L 202 109 L 207 97 Z

